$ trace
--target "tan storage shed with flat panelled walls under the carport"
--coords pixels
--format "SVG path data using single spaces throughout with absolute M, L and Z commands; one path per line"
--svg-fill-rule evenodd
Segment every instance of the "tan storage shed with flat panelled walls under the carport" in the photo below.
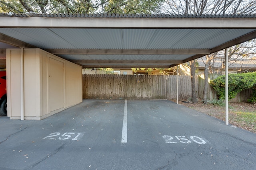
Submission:
M 40 120 L 82 102 L 82 67 L 41 49 L 24 49 L 24 119 Z M 21 118 L 21 50 L 6 50 L 10 119 Z

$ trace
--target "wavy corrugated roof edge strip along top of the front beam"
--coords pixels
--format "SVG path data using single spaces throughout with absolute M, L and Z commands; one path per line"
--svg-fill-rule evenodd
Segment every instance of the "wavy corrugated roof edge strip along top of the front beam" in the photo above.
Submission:
M 58 18 L 256 18 L 256 14 L 24 14 L 0 13 L 0 17 L 58 17 Z

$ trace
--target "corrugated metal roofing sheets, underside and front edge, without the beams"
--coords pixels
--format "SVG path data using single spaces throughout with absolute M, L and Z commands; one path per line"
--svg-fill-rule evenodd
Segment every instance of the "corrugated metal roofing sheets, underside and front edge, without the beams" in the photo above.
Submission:
M 256 18 L 254 14 L 238 15 L 176 15 L 176 14 L 0 14 L 0 17 L 17 18 Z M 255 19 L 252 20 L 255 22 Z M 79 24 L 79 23 L 78 23 Z M 240 41 L 256 38 L 256 27 L 251 28 L 56 28 L 56 27 L 0 27 L 4 36 L 18 39 L 35 47 L 51 51 L 77 50 L 73 53 L 56 53 L 59 57 L 87 66 L 130 67 L 162 66 L 182 63 L 194 59 L 213 49 L 225 48 Z M 252 37 L 248 36 L 252 35 Z M 246 38 L 243 38 L 247 36 Z M 239 40 L 236 40 L 239 39 Z M 232 42 L 232 43 L 230 43 Z M 190 51 L 198 49 L 195 53 Z M 88 51 L 79 51 L 88 50 Z M 90 51 L 94 50 L 94 51 Z M 103 50 L 97 52 L 97 50 Z M 106 50 L 106 53 L 104 52 Z M 108 50 L 119 50 L 109 54 Z M 130 50 L 123 53 L 122 50 Z M 146 53 L 141 50 L 155 50 Z M 158 50 L 174 50 L 158 51 Z M 177 51 L 176 51 L 177 50 Z M 186 51 L 186 52 L 184 52 Z M 212 51 L 213 52 L 213 51 Z M 118 54 L 116 54 L 118 53 Z M 168 53 L 168 54 L 167 54 Z M 89 62 L 90 61 L 90 62 Z M 95 61 L 95 62 L 92 62 Z M 109 62 L 106 62 L 109 61 Z M 111 61 L 113 61 L 111 63 Z M 116 62 L 118 61 L 118 62 Z M 122 63 L 122 61 L 126 61 Z M 130 61 L 128 63 L 127 61 Z M 138 62 L 140 61 L 140 62 Z M 145 61 L 145 63 L 143 63 Z M 146 62 L 148 61 L 148 62 Z M 152 61 L 152 63 L 150 63 Z M 172 62 L 173 61 L 173 62 Z M 87 63 L 89 62 L 89 63 Z M 162 63 L 161 63 L 162 62 Z

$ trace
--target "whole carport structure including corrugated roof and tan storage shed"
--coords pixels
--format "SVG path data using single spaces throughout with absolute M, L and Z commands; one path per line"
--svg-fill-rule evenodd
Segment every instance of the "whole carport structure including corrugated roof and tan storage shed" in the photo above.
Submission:
M 81 68 L 186 63 L 256 38 L 256 15 L 0 14 L 0 37 L 19 48 L 0 49 L 9 77 L 8 116 L 43 119 L 82 102 Z M 62 70 L 55 75 L 62 77 L 58 92 L 50 90 L 56 84 L 49 73 L 56 70 Z

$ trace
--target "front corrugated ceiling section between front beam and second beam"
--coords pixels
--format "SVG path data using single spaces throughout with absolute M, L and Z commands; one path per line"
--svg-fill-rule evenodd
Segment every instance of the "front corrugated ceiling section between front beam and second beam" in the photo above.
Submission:
M 254 30 L 0 28 L 42 49 L 212 49 Z

